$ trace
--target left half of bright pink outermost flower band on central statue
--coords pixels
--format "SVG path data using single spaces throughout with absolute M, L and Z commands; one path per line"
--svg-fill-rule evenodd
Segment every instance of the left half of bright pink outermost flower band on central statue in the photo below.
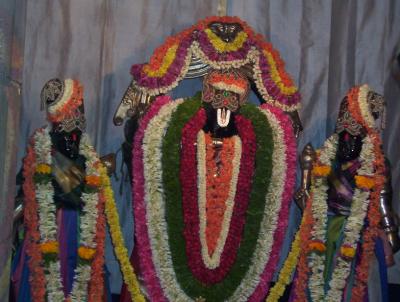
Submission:
M 144 174 L 143 174 L 143 149 L 142 142 L 144 133 L 150 120 L 157 115 L 161 107 L 171 101 L 169 96 L 159 96 L 156 98 L 146 115 L 140 121 L 139 128 L 134 138 L 133 149 L 133 209 L 135 212 L 135 236 L 137 244 L 135 249 L 138 249 L 140 271 L 145 280 L 146 290 L 151 298 L 151 301 L 166 301 L 163 294 L 160 281 L 157 278 L 157 273 L 152 260 L 152 251 L 148 229 L 146 223 L 146 205 L 144 202 Z M 131 263 L 134 264 L 136 253 L 131 256 Z

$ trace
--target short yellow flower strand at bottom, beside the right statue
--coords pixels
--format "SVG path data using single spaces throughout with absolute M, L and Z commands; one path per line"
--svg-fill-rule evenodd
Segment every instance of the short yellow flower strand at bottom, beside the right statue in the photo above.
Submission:
M 269 291 L 268 297 L 265 300 L 266 302 L 276 302 L 282 297 L 285 292 L 286 286 L 290 282 L 290 276 L 292 275 L 294 269 L 297 266 L 297 262 L 300 255 L 300 231 L 297 231 L 295 239 L 292 243 L 292 248 L 286 261 L 279 272 L 278 281 Z

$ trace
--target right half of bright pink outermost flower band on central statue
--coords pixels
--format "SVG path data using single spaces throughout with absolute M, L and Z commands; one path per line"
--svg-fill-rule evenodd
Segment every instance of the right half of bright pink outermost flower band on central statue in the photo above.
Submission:
M 269 284 L 276 270 L 279 260 L 279 253 L 282 248 L 285 232 L 288 225 L 289 205 L 292 200 L 295 181 L 296 181 L 296 139 L 294 137 L 293 128 L 289 117 L 279 108 L 268 104 L 263 104 L 262 109 L 270 111 L 278 119 L 283 129 L 284 140 L 286 145 L 286 177 L 285 187 L 282 194 L 281 210 L 279 212 L 278 225 L 274 233 L 274 243 L 268 263 L 261 275 L 260 283 L 250 297 L 249 301 L 260 301 L 269 290 Z

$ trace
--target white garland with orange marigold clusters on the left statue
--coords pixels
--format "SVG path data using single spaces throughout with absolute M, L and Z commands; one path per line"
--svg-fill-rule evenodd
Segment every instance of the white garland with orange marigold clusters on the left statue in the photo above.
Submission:
M 97 219 L 99 217 L 99 186 L 101 163 L 89 143 L 88 137 L 83 134 L 79 154 L 86 159 L 85 190 L 81 199 L 84 204 L 80 216 L 80 246 L 78 248 L 79 261 L 75 269 L 75 277 L 71 293 L 65 297 L 60 273 L 59 243 L 57 241 L 56 206 L 54 203 L 54 188 L 51 183 L 52 144 L 47 128 L 39 129 L 34 134 L 35 197 L 37 226 L 40 239 L 39 248 L 44 259 L 44 277 L 46 282 L 47 298 L 50 301 L 85 301 L 87 287 L 91 280 L 91 263 L 96 255 Z

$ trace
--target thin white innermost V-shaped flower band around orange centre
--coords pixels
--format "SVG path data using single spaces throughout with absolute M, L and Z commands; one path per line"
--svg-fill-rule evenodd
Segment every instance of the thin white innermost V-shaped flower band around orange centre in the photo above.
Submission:
M 217 240 L 214 253 L 210 256 L 206 239 L 206 144 L 204 131 L 199 131 L 197 135 L 197 171 L 198 171 L 198 201 L 199 201 L 199 221 L 200 221 L 200 243 L 203 262 L 209 269 L 217 268 L 220 264 L 223 247 L 228 237 L 229 226 L 235 204 L 236 185 L 238 181 L 240 158 L 242 155 L 242 142 L 238 136 L 234 136 L 234 157 L 232 160 L 232 178 L 229 183 L 229 194 L 225 201 L 225 212 L 222 220 L 221 231 Z

